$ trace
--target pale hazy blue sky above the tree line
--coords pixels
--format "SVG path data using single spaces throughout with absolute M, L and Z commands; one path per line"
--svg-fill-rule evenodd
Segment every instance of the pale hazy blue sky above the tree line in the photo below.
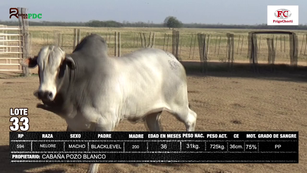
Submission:
M 306 0 L 3 0 L 0 20 L 9 18 L 11 7 L 28 8 L 28 13 L 41 13 L 31 21 L 161 23 L 175 16 L 183 23 L 261 24 L 267 21 L 267 5 L 298 5 L 299 24 L 307 24 Z

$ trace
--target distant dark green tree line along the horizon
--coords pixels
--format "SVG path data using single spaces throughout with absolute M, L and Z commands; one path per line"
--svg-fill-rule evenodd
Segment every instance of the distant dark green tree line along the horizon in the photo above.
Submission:
M 1 25 L 7 26 L 18 26 L 18 21 L 0 21 Z M 165 18 L 163 23 L 153 23 L 153 22 L 116 22 L 113 20 L 99 21 L 91 20 L 88 22 L 49 22 L 40 21 L 33 22 L 29 21 L 29 26 L 88 26 L 88 27 L 168 27 L 173 28 L 218 28 L 218 29 L 275 29 L 275 30 L 307 30 L 307 25 L 298 26 L 268 26 L 267 24 L 259 25 L 224 25 L 224 24 L 203 24 L 203 23 L 182 23 L 176 17 L 168 16 Z

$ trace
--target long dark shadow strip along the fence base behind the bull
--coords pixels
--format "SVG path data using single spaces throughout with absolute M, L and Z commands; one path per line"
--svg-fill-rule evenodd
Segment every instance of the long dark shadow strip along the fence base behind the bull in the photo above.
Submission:
M 293 67 L 286 64 L 255 64 L 228 62 L 208 62 L 207 70 L 202 73 L 202 63 L 194 61 L 181 61 L 187 75 L 215 76 L 215 77 L 241 77 L 259 78 L 267 80 L 307 82 L 307 66 Z

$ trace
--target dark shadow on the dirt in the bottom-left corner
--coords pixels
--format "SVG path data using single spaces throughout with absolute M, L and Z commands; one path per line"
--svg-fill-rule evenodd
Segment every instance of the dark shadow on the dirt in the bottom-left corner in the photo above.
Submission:
M 21 172 L 31 172 L 25 171 L 37 167 L 44 167 L 49 164 L 47 163 L 10 163 L 10 146 L 2 145 L 0 146 L 0 172 L 5 173 L 21 173 Z M 45 170 L 39 173 L 61 173 L 65 172 L 63 169 L 52 169 Z M 36 171 L 36 173 L 38 173 Z

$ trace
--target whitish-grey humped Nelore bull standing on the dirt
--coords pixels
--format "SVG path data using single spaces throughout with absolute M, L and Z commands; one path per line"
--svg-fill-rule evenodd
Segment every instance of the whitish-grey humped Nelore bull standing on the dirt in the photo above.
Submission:
M 194 131 L 197 115 L 189 108 L 182 64 L 168 52 L 146 48 L 122 57 L 108 57 L 103 38 L 85 37 L 72 54 L 44 46 L 21 62 L 38 65 L 40 86 L 34 95 L 67 122 L 67 131 L 113 131 L 121 120 L 145 120 L 161 131 L 160 115 L 168 111 Z M 91 163 L 88 173 L 96 173 Z

